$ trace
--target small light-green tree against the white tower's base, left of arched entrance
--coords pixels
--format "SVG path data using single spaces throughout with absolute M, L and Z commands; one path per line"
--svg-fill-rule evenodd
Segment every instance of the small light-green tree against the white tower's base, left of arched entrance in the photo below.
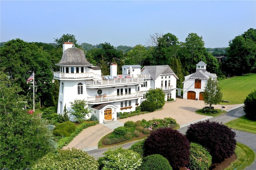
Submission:
M 85 100 L 74 100 L 74 102 L 70 102 L 71 108 L 74 111 L 70 111 L 71 115 L 76 116 L 74 118 L 75 121 L 81 123 L 86 119 L 86 116 L 89 116 L 90 109 L 87 106 L 87 102 Z

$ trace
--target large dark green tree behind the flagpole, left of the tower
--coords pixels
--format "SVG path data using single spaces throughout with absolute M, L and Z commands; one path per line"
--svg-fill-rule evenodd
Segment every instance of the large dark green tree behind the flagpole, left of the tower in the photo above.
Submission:
M 30 84 L 26 80 L 35 72 L 35 84 L 37 86 L 36 97 L 41 104 L 46 102 L 52 89 L 52 63 L 49 61 L 50 55 L 35 43 L 28 43 L 21 39 L 12 39 L 1 47 L 1 66 L 4 73 L 14 80 L 13 83 L 20 86 L 24 92 L 22 94 L 32 94 L 28 90 Z M 52 103 L 52 102 L 48 102 Z

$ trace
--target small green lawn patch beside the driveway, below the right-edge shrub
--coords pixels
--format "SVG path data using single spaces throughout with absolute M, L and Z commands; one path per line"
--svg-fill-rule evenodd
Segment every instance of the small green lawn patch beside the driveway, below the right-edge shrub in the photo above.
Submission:
M 256 121 L 251 121 L 245 116 L 229 121 L 225 125 L 232 129 L 256 134 Z

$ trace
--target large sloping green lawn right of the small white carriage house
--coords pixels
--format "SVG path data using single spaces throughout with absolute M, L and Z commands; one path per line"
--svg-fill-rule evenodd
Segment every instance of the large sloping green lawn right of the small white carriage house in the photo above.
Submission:
M 244 76 L 236 76 L 219 80 L 222 99 L 230 103 L 221 104 L 242 104 L 248 94 L 256 89 L 256 74 L 250 73 Z

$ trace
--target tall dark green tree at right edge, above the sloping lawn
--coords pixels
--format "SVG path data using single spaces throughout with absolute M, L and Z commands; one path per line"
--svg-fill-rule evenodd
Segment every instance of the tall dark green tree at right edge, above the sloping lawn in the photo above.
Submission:
M 229 42 L 227 72 L 243 75 L 256 71 L 256 29 L 248 29 Z

